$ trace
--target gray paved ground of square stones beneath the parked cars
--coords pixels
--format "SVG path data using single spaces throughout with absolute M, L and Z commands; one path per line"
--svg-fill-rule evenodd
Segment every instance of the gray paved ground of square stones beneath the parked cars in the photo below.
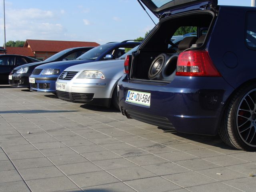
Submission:
M 0 192 L 255 192 L 256 153 L 0 87 Z

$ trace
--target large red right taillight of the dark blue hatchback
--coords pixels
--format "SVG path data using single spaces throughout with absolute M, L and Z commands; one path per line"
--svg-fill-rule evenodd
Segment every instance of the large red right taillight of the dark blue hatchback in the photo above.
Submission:
M 176 68 L 177 76 L 220 77 L 207 51 L 185 51 L 180 53 Z

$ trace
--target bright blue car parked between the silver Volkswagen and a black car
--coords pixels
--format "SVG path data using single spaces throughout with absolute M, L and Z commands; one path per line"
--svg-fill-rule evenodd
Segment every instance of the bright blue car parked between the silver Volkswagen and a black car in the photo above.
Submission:
M 75 60 L 51 62 L 40 65 L 34 69 L 32 75 L 29 77 L 30 89 L 55 93 L 55 82 L 66 68 L 82 63 L 116 59 L 125 54 L 130 48 L 134 48 L 139 44 L 140 42 L 133 40 L 111 42 L 95 47 Z

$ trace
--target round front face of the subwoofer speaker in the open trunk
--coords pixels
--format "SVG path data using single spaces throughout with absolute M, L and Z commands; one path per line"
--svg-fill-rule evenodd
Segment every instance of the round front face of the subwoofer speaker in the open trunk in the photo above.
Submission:
M 167 58 L 169 58 L 169 56 L 162 53 L 153 60 L 148 70 L 149 79 L 156 79 L 159 74 L 161 74 L 162 68 L 164 67 L 164 63 L 166 62 Z

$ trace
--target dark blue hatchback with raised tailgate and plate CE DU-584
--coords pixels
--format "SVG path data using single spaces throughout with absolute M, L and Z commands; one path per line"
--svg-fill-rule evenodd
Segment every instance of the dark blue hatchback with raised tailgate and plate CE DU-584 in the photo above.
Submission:
M 118 82 L 122 114 L 256 150 L 256 8 L 217 0 L 141 0 L 160 18 Z M 182 28 L 196 29 L 174 49 Z

